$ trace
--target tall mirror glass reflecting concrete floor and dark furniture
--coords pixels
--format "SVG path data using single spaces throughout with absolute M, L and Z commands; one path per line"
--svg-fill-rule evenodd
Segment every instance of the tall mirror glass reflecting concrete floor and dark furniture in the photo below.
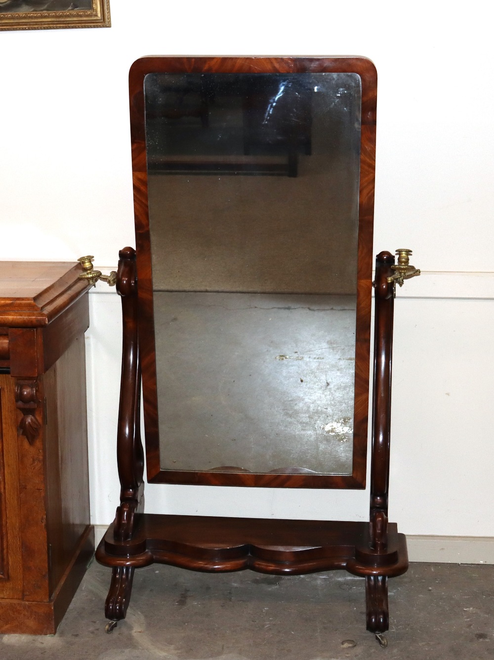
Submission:
M 351 474 L 359 76 L 144 96 L 162 469 Z

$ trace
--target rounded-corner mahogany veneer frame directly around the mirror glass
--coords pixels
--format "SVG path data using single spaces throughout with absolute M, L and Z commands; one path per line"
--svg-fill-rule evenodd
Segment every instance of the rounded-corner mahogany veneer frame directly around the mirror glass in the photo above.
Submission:
M 173 471 L 160 467 L 158 394 L 144 123 L 144 77 L 148 73 L 355 73 L 361 79 L 360 181 L 355 322 L 355 400 L 352 473 L 307 475 L 220 471 Z M 377 72 L 365 57 L 142 57 L 129 72 L 132 170 L 137 252 L 138 332 L 147 478 L 150 483 L 365 488 L 369 409 L 369 359 L 373 269 L 373 215 Z

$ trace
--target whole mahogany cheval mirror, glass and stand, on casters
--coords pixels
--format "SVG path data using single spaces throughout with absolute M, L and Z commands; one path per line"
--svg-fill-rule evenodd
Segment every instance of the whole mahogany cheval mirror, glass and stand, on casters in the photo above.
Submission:
M 148 482 L 365 488 L 377 75 L 364 57 L 143 57 L 129 76 L 137 249 L 120 252 L 121 504 L 98 547 L 106 616 L 135 568 L 346 569 L 386 643 L 396 282 L 381 252 L 369 523 L 144 513 Z

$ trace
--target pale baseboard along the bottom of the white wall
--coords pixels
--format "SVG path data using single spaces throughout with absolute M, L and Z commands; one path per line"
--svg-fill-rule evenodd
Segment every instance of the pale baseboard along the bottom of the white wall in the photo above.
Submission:
M 96 545 L 107 525 L 94 525 Z M 439 537 L 407 535 L 410 562 L 433 564 L 494 564 L 494 537 Z

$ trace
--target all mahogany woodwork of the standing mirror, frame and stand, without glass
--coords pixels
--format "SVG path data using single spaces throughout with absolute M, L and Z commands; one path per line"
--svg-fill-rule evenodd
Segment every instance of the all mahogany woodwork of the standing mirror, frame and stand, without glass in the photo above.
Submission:
M 146 73 L 353 72 L 362 82 L 355 419 L 352 475 L 248 473 L 247 471 L 162 471 L 148 221 L 143 82 Z M 112 568 L 106 616 L 125 617 L 135 568 L 154 562 L 191 570 L 251 569 L 276 575 L 347 570 L 366 581 L 367 628 L 388 628 L 387 578 L 408 568 L 406 541 L 388 523 L 392 286 L 386 282 L 393 257 L 377 257 L 371 507 L 369 523 L 152 515 L 142 513 L 142 447 L 139 438 L 139 383 L 142 362 L 148 480 L 183 484 L 363 488 L 367 452 L 369 337 L 375 168 L 377 78 L 365 58 L 170 58 L 138 60 L 129 75 L 135 199 L 136 255 L 120 253 L 118 290 L 123 305 L 123 365 L 117 461 L 121 504 L 98 546 L 96 558 Z M 137 277 L 138 276 L 138 277 Z M 139 285 L 138 285 L 139 284 Z

